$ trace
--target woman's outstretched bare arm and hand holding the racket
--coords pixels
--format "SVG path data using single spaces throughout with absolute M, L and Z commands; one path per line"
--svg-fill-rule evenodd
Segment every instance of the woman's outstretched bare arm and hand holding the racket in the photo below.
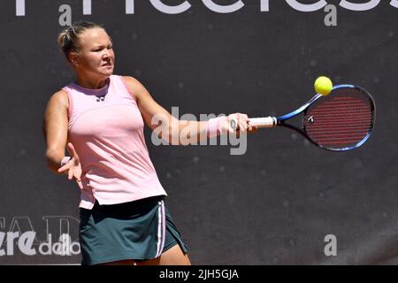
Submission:
M 124 80 L 130 94 L 137 101 L 145 124 L 158 134 L 159 137 L 172 144 L 188 144 L 208 138 L 206 132 L 207 121 L 176 119 L 150 96 L 148 90 L 138 80 L 132 77 L 124 77 Z M 246 115 L 239 113 L 233 115 L 241 115 L 241 130 L 248 128 L 251 130 L 251 127 L 247 124 L 246 120 L 249 119 Z M 228 125 L 228 119 L 225 119 L 223 128 L 225 132 L 233 132 L 233 129 Z M 187 138 L 185 141 L 181 141 L 180 139 L 181 131 L 183 131 L 183 136 Z

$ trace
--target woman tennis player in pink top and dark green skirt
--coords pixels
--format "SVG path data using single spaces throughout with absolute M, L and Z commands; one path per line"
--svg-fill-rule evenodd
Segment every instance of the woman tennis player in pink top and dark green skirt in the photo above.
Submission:
M 251 131 L 248 116 L 172 117 L 140 81 L 113 74 L 111 38 L 96 23 L 77 22 L 58 35 L 58 42 L 76 80 L 50 97 L 43 132 L 50 170 L 80 187 L 81 264 L 190 264 L 165 207 L 167 194 L 150 160 L 143 127 L 164 129 L 157 134 L 165 140 L 189 127 L 186 133 L 200 141 L 233 132 L 230 119 L 239 119 L 241 131 Z

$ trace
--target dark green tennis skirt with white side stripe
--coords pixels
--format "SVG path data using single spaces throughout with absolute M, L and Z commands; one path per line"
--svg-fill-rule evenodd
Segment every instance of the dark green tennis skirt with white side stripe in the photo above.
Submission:
M 96 202 L 92 210 L 80 208 L 81 264 L 152 259 L 177 244 L 186 254 L 164 198 L 111 205 Z

